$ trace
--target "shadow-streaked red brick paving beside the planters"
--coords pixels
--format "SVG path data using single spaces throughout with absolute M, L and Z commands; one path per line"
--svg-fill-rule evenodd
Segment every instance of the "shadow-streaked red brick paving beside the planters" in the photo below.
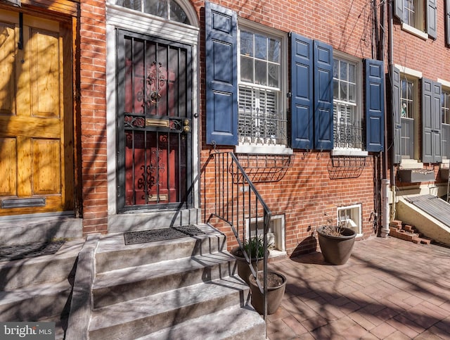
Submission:
M 450 248 L 373 237 L 345 265 L 317 252 L 269 268 L 288 278 L 270 340 L 450 339 Z

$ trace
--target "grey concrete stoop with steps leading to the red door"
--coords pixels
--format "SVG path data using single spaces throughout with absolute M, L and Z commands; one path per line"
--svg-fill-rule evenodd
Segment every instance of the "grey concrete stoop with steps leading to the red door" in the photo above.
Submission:
M 205 234 L 130 246 L 122 233 L 88 239 L 66 339 L 265 339 L 226 238 L 197 227 Z

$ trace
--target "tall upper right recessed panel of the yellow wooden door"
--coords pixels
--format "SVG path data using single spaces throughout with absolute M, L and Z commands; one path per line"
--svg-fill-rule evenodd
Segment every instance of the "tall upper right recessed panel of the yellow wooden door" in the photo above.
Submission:
M 57 33 L 32 29 L 30 32 L 31 115 L 60 116 L 60 57 Z

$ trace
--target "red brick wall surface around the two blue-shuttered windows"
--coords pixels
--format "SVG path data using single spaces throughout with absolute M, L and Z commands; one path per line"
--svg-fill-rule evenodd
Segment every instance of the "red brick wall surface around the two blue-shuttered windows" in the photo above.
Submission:
M 359 58 L 371 55 L 371 9 L 367 1 L 213 1 L 238 13 L 238 17 L 282 30 L 297 32 L 311 39 L 321 40 L 333 49 Z M 378 11 L 379 13 L 379 11 Z M 204 32 L 203 11 L 200 15 Z M 211 152 L 205 144 L 205 50 L 201 37 L 201 113 L 203 115 L 203 143 L 201 161 L 204 165 Z M 224 150 L 224 149 L 222 149 Z M 202 167 L 203 170 L 205 170 Z M 371 213 L 374 211 L 375 160 L 366 159 L 366 166 L 356 178 L 332 179 L 330 152 L 313 151 L 304 155 L 295 150 L 288 171 L 278 182 L 257 184 L 257 189 L 273 215 L 285 215 L 285 238 L 288 255 L 315 251 L 318 247 L 313 231 L 323 225 L 324 213 L 335 217 L 337 208 L 361 203 L 364 237 L 373 234 Z M 380 170 L 380 165 L 378 165 Z M 212 201 L 210 185 L 214 172 L 206 169 L 203 178 L 202 202 Z M 377 174 L 379 176 L 379 174 Z M 203 216 L 212 213 L 203 205 Z M 236 245 L 229 227 L 219 221 L 216 225 L 228 236 L 229 247 Z M 313 237 L 311 237 L 313 236 Z

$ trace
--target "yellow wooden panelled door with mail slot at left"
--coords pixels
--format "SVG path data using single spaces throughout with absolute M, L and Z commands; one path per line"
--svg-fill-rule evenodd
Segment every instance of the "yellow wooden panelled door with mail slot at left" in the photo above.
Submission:
M 73 209 L 70 46 L 57 21 L 0 10 L 0 216 Z

